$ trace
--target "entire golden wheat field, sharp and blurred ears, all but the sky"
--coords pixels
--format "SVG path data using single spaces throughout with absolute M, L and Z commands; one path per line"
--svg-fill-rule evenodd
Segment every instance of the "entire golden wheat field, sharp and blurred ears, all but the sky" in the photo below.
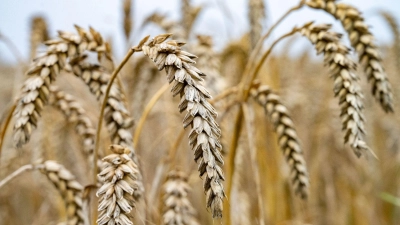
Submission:
M 216 52 L 211 36 L 192 29 L 206 7 L 181 5 L 180 21 L 150 15 L 140 30 L 166 33 L 142 38 L 118 65 L 95 29 L 75 25 L 50 39 L 45 19 L 32 20 L 32 61 L 20 60 L 25 78 L 10 76 L 16 100 L 8 95 L 0 121 L 1 224 L 400 223 L 400 92 L 391 87 L 400 82 L 400 33 L 390 13 L 381 15 L 394 47 L 381 56 L 362 13 L 346 3 L 302 0 L 264 34 L 265 3 L 249 0 L 249 33 Z M 127 45 L 131 7 L 125 0 Z M 265 44 L 306 7 L 346 33 L 317 20 Z M 290 58 L 294 38 L 272 54 L 296 34 L 326 69 L 308 51 Z M 168 86 L 176 98 L 164 95 Z

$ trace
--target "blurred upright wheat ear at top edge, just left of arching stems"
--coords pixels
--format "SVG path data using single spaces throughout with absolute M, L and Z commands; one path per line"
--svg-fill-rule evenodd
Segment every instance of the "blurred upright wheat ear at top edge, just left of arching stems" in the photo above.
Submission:
M 250 20 L 250 44 L 251 48 L 253 49 L 262 34 L 263 22 L 265 20 L 265 7 L 263 0 L 248 0 L 248 5 L 248 17 Z

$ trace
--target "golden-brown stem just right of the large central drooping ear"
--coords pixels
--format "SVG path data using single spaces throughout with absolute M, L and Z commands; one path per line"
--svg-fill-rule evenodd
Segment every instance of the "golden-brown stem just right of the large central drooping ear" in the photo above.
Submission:
M 226 195 L 228 200 L 224 202 L 224 208 L 226 211 L 225 216 L 225 224 L 231 225 L 231 206 L 230 206 L 230 197 L 232 192 L 232 184 L 233 184 L 233 175 L 235 173 L 235 157 L 236 157 L 236 150 L 239 143 L 240 132 L 242 131 L 242 121 L 243 121 L 243 110 L 239 107 L 239 112 L 236 115 L 235 119 L 235 128 L 233 131 L 233 137 L 231 139 L 231 144 L 229 146 L 229 158 L 227 162 L 226 168 Z

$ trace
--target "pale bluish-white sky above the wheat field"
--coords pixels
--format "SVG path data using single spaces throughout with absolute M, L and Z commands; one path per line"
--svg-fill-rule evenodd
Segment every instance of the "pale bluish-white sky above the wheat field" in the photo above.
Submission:
M 276 21 L 280 15 L 299 0 L 265 0 L 268 22 Z M 396 15 L 400 23 L 400 0 L 342 0 L 352 4 L 364 12 L 366 22 L 376 37 L 378 44 L 393 40 L 390 29 L 377 15 L 378 10 L 386 10 Z M 204 10 L 196 22 L 195 33 L 205 33 L 214 36 L 218 46 L 229 40 L 240 37 L 247 29 L 247 0 L 192 0 L 194 5 L 205 4 Z M 229 8 L 231 18 L 223 19 L 219 5 Z M 138 28 L 142 20 L 154 11 L 167 13 L 171 18 L 178 19 L 180 10 L 179 0 L 134 0 L 133 20 Z M 17 45 L 26 59 L 29 55 L 29 24 L 34 15 L 43 15 L 50 27 L 51 37 L 56 36 L 57 30 L 74 31 L 74 24 L 84 28 L 94 27 L 104 37 L 113 37 L 113 45 L 117 58 L 126 51 L 122 32 L 122 0 L 1 0 L 0 1 L 0 32 Z M 342 32 L 340 25 L 333 17 L 318 10 L 302 9 L 291 15 L 276 30 L 275 36 L 289 31 L 293 25 L 301 26 L 308 21 L 335 24 L 336 31 Z M 230 33 L 227 34 L 229 26 Z M 156 28 L 147 28 L 137 33 L 136 41 L 141 37 L 159 33 Z M 0 60 L 14 63 L 15 59 L 4 43 L 0 42 Z

